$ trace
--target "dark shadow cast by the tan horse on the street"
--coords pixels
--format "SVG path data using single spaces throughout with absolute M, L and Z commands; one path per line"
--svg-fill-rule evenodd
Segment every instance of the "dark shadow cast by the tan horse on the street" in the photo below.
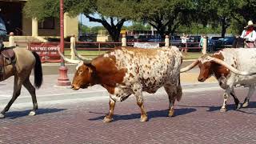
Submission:
M 50 114 L 50 113 L 57 113 L 59 111 L 66 110 L 66 109 L 38 109 L 36 115 L 40 114 Z M 23 110 L 23 111 L 10 111 L 6 113 L 6 118 L 14 119 L 14 118 L 21 118 L 28 116 L 31 110 Z

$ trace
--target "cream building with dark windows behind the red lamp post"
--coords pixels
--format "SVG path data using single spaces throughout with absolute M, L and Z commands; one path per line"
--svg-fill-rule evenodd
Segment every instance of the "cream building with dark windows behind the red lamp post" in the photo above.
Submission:
M 26 18 L 22 9 L 28 0 L 1 0 L 0 16 L 6 24 L 8 34 L 14 32 L 18 36 L 31 37 L 58 37 L 59 18 L 46 18 L 43 22 L 38 22 L 36 18 Z M 70 18 L 64 14 L 64 37 L 72 34 L 78 35 L 78 17 Z

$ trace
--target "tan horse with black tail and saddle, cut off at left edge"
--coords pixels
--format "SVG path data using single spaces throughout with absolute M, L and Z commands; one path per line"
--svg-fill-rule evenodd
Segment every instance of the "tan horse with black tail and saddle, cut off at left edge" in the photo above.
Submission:
M 36 110 L 38 110 L 38 102 L 35 94 L 35 89 L 39 89 L 42 85 L 42 63 L 39 58 L 39 55 L 30 50 L 26 50 L 23 48 L 15 47 L 14 49 L 10 49 L 10 53 L 14 55 L 11 60 L 6 64 L 6 56 L 3 54 L 5 50 L 1 51 L 1 59 L 3 60 L 1 71 L 0 82 L 14 76 L 14 92 L 13 96 L 10 99 L 10 102 L 6 105 L 6 107 L 0 113 L 0 118 L 5 118 L 6 111 L 10 109 L 10 106 L 14 103 L 16 98 L 21 93 L 22 85 L 29 91 L 32 102 L 33 102 L 33 110 L 30 111 L 29 115 L 35 115 Z M 7 54 L 8 55 L 8 54 Z M 5 58 L 3 58 L 5 57 Z M 1 61 L 0 59 L 0 61 Z M 30 82 L 30 74 L 34 69 L 34 86 Z

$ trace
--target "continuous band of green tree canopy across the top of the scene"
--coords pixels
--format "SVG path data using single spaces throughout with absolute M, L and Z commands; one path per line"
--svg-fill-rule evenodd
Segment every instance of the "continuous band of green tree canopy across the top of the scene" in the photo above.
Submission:
M 129 27 L 132 30 L 144 29 L 148 23 L 162 35 L 191 26 L 197 31 L 221 27 L 222 36 L 226 30 L 240 33 L 246 22 L 256 22 L 255 7 L 255 0 L 64 0 L 65 12 L 71 16 L 82 13 L 90 22 L 102 23 L 114 41 L 127 20 L 134 22 Z M 23 11 L 39 21 L 59 17 L 59 0 L 29 0 Z

